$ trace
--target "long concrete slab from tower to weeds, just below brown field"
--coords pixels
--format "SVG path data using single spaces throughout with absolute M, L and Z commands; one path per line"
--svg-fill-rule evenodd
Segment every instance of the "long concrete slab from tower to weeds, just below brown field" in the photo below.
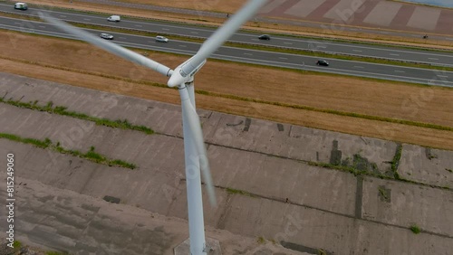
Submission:
M 340 165 L 342 161 L 352 161 L 354 155 L 360 155 L 367 158 L 370 164 L 375 164 L 381 173 L 390 170 L 389 162 L 393 159 L 397 146 L 394 142 L 370 137 L 356 137 L 255 118 L 248 118 L 248 121 L 250 125 L 246 126 L 245 117 L 213 113 L 203 125 L 205 138 L 210 143 L 222 146 L 327 164 Z M 334 144 L 337 145 L 336 149 Z M 334 156 L 333 151 L 336 151 Z

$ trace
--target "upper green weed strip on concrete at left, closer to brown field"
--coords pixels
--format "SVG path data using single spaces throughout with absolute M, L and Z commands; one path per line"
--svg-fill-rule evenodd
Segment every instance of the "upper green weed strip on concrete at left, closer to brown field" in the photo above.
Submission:
M 21 102 L 20 100 L 12 100 L 12 99 L 5 100 L 5 96 L 0 99 L 0 102 L 9 104 L 9 105 L 12 105 L 15 107 L 24 108 L 24 109 L 34 109 L 34 110 L 39 110 L 39 111 L 46 111 L 49 113 L 54 113 L 54 114 L 63 115 L 63 116 L 69 116 L 72 118 L 80 118 L 80 119 L 84 119 L 84 120 L 89 120 L 89 121 L 96 123 L 96 125 L 99 125 L 99 126 L 137 130 L 137 131 L 143 132 L 147 135 L 154 134 L 154 131 L 152 129 L 150 129 L 149 127 L 132 125 L 132 124 L 130 124 L 130 122 L 127 119 L 111 120 L 108 118 L 97 118 L 97 117 L 88 116 L 84 113 L 69 111 L 69 110 L 67 110 L 66 107 L 63 107 L 63 106 L 53 106 L 52 101 L 47 102 L 47 104 L 45 106 L 40 106 L 37 104 L 38 103 L 37 100 L 34 102 L 30 101 L 28 103 L 25 103 L 25 102 Z

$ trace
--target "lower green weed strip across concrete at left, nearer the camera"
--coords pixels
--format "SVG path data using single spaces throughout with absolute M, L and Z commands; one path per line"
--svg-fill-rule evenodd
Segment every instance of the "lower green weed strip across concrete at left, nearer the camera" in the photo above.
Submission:
M 60 142 L 57 142 L 53 145 L 52 141 L 49 138 L 44 140 L 34 139 L 34 138 L 24 138 L 19 137 L 13 134 L 0 133 L 0 138 L 5 138 L 14 142 L 19 142 L 23 144 L 33 145 L 44 149 L 50 149 L 61 154 L 68 154 L 71 156 L 78 156 L 87 160 L 90 160 L 94 163 L 109 165 L 109 166 L 120 166 L 129 169 L 137 168 L 137 165 L 122 161 L 120 159 L 108 159 L 105 156 L 94 151 L 94 146 L 90 147 L 90 150 L 86 153 L 82 153 L 78 150 L 65 149 L 60 145 Z

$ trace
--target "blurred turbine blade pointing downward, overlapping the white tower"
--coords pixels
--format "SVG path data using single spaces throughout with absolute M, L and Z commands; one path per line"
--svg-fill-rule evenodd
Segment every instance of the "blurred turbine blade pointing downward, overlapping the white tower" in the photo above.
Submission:
M 187 89 L 182 89 L 186 90 Z M 182 96 L 181 96 L 182 98 Z M 212 184 L 212 177 L 209 168 L 209 162 L 207 160 L 207 151 L 205 142 L 203 139 L 203 131 L 201 130 L 201 124 L 199 122 L 197 111 L 194 109 L 188 97 L 184 97 L 185 99 L 181 100 L 181 106 L 183 110 L 183 114 L 186 117 L 186 122 L 184 124 L 188 125 L 188 129 L 190 130 L 190 137 L 184 137 L 184 139 L 191 138 L 192 142 L 197 147 L 197 152 L 199 156 L 199 165 L 201 168 L 201 175 L 203 175 L 203 179 L 205 180 L 206 187 L 207 187 L 207 195 L 209 197 L 209 202 L 212 206 L 216 206 L 216 194 L 214 192 L 214 186 Z M 187 152 L 186 152 L 187 153 Z

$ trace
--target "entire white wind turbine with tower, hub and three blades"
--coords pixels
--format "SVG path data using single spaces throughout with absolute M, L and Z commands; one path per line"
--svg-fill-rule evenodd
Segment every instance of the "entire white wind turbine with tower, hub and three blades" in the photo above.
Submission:
M 190 253 L 193 255 L 207 254 L 205 229 L 203 219 L 203 203 L 201 197 L 201 173 L 206 182 L 207 194 L 212 206 L 216 206 L 216 195 L 211 180 L 209 164 L 207 161 L 207 151 L 203 139 L 198 114 L 195 108 L 194 95 L 194 75 L 205 64 L 207 58 L 222 46 L 226 40 L 246 23 L 257 10 L 265 5 L 267 0 L 249 0 L 246 5 L 231 17 L 226 24 L 217 29 L 206 42 L 204 42 L 198 52 L 178 65 L 173 71 L 169 67 L 152 61 L 139 53 L 131 52 L 119 45 L 104 41 L 91 33 L 86 33 L 81 29 L 65 24 L 49 15 L 40 14 L 43 20 L 53 24 L 66 33 L 72 33 L 83 41 L 90 42 L 101 49 L 118 55 L 124 59 L 146 66 L 151 70 L 157 71 L 165 76 L 169 76 L 168 86 L 178 87 L 181 97 L 182 124 L 184 134 L 184 154 L 186 163 L 186 179 L 188 191 L 188 229 L 190 239 Z

